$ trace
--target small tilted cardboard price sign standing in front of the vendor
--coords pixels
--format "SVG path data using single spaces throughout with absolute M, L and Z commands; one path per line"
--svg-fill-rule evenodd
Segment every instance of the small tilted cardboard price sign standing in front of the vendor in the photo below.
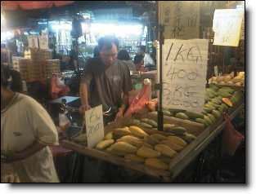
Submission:
M 102 105 L 85 112 L 88 147 L 93 148 L 104 139 Z

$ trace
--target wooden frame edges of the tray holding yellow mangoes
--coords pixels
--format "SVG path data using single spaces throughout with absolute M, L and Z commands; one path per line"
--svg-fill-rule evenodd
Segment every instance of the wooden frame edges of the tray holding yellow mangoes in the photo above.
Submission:
M 115 128 L 127 126 L 127 123 L 129 122 L 130 119 L 131 118 L 124 118 L 121 121 L 111 123 L 109 126 L 106 126 L 105 134 L 109 133 L 112 130 L 115 130 Z M 147 134 L 168 135 L 168 133 L 166 133 L 164 131 L 152 130 L 152 129 L 148 129 L 148 128 L 142 128 L 142 129 L 145 130 Z M 201 130 L 201 132 L 203 132 L 203 130 Z M 192 133 L 192 131 L 191 131 L 191 133 Z M 192 134 L 194 134 L 194 133 L 192 133 Z M 117 157 L 117 156 L 111 155 L 108 152 L 99 151 L 94 148 L 87 148 L 78 143 L 71 142 L 70 140 L 64 140 L 62 142 L 62 145 L 65 148 L 72 149 L 72 150 L 79 152 L 83 155 L 86 155 L 88 157 L 94 157 L 94 158 L 97 158 L 102 161 L 108 161 L 115 165 L 120 165 L 120 166 L 124 167 L 125 169 L 136 170 L 136 171 L 140 172 L 141 174 L 146 174 L 147 176 L 154 177 L 156 179 L 160 179 L 163 182 L 169 183 L 173 179 L 173 174 L 175 173 L 173 170 L 175 170 L 175 165 L 179 162 L 182 162 L 181 159 L 183 158 L 183 156 L 189 152 L 192 152 L 192 150 L 196 147 L 196 145 L 198 145 L 205 138 L 204 137 L 205 135 L 206 135 L 206 133 L 200 133 L 200 135 L 197 137 L 197 139 L 195 141 L 193 141 L 192 143 L 189 143 L 182 150 L 182 152 L 178 152 L 177 156 L 171 160 L 171 162 L 169 164 L 169 166 L 170 166 L 169 170 L 157 170 L 154 168 L 150 168 L 141 163 L 128 161 L 128 160 L 124 159 L 124 157 Z

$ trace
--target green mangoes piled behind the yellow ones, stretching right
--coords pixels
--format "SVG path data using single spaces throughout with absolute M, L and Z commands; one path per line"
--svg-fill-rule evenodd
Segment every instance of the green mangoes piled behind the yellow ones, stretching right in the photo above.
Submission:
M 243 98 L 244 93 L 240 90 L 234 90 L 229 86 L 217 86 L 210 84 L 205 91 L 204 111 L 201 113 L 188 112 L 181 109 L 164 109 L 164 116 L 177 117 L 182 120 L 189 120 L 204 124 L 204 127 L 212 126 L 222 117 L 223 112 L 231 107 L 234 107 Z M 157 112 L 150 112 L 151 117 L 157 117 Z M 157 124 L 154 121 L 141 121 L 137 123 L 141 127 L 148 127 L 155 129 Z M 173 126 L 175 128 L 182 128 L 180 126 Z M 186 129 L 185 129 L 186 130 Z

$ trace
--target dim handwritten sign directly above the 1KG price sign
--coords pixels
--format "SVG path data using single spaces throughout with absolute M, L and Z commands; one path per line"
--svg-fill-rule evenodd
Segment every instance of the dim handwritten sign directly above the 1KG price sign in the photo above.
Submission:
M 164 39 L 200 37 L 200 1 L 159 1 Z

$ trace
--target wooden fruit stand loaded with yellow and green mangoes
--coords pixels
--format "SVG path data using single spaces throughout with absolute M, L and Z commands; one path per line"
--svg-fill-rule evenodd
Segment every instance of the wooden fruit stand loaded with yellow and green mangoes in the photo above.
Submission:
M 213 85 L 210 87 L 211 89 L 215 88 Z M 204 111 L 206 112 L 204 112 L 203 118 L 208 121 L 207 117 L 214 113 L 216 119 L 215 121 L 211 120 L 211 123 L 204 123 L 204 121 L 194 118 L 196 114 L 187 113 L 193 117 L 189 121 L 182 119 L 182 114 L 175 112 L 177 110 L 174 112 L 165 110 L 165 129 L 159 131 L 153 127 L 154 121 L 157 121 L 155 112 L 143 110 L 133 115 L 132 118 L 126 118 L 106 126 L 105 139 L 98 143 L 96 148 L 88 148 L 84 145 L 86 143 L 81 144 L 74 139 L 64 140 L 62 146 L 87 157 L 107 161 L 124 169 L 135 170 L 146 176 L 159 179 L 160 182 L 171 183 L 222 132 L 225 121 L 223 121 L 221 114 L 218 115 L 213 110 L 227 112 L 232 119 L 244 108 L 244 96 L 243 93 L 240 93 L 242 91 L 227 88 L 225 92 L 222 92 L 224 89 L 223 87 L 216 89 L 214 97 L 222 95 L 222 97 L 229 98 L 232 103 L 230 104 L 231 107 L 222 105 L 222 102 L 226 102 L 225 100 L 218 102 L 213 97 L 209 99 L 209 95 L 213 93 L 212 90 L 208 89 L 206 92 L 205 102 L 207 105 L 205 105 Z M 215 108 L 209 106 L 214 104 L 213 102 L 215 102 Z M 186 114 L 186 112 L 183 113 Z M 148 127 L 146 127 L 146 123 L 148 123 Z M 183 131 L 184 129 L 185 131 Z M 184 145 L 182 145 L 182 140 L 176 141 L 172 138 L 173 136 L 182 139 Z M 124 145 L 120 145 L 122 143 Z M 166 148 L 163 144 L 168 147 Z M 171 151 L 168 148 L 171 148 Z M 126 152 L 126 149 L 131 150 Z

